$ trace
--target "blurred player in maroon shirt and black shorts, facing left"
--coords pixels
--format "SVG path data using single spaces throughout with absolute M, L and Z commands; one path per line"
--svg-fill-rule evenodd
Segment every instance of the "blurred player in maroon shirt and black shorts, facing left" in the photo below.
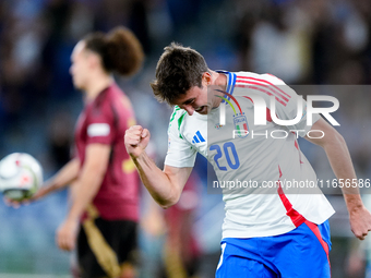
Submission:
M 124 27 L 89 34 L 76 44 L 70 73 L 85 92 L 85 107 L 75 128 L 75 157 L 32 198 L 73 184 L 56 240 L 61 250 L 76 246 L 84 278 L 135 277 L 139 178 L 123 143 L 135 118 L 112 72 L 134 74 L 143 58 L 141 44 Z

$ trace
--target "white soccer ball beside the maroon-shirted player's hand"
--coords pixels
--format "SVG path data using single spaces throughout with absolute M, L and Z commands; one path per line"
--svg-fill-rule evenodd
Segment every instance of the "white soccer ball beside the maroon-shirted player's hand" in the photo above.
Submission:
M 41 184 L 43 168 L 33 156 L 13 153 L 0 160 L 0 190 L 8 198 L 29 198 Z

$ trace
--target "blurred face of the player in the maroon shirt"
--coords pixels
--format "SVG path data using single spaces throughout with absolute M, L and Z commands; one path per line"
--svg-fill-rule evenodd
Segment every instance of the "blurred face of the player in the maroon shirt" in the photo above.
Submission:
M 72 51 L 70 73 L 73 85 L 76 88 L 85 89 L 88 74 L 88 57 L 84 41 L 80 41 Z

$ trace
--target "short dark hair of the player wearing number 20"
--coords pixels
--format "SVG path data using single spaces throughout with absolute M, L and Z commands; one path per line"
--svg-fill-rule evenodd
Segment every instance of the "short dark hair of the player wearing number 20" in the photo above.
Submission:
M 172 105 L 193 86 L 202 87 L 202 74 L 208 72 L 205 59 L 190 47 L 171 43 L 156 67 L 156 80 L 151 83 L 159 101 Z

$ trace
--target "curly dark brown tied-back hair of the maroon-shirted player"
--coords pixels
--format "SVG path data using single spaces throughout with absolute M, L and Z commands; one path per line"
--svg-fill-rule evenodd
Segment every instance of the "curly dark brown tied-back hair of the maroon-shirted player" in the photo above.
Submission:
M 125 27 L 117 27 L 108 34 L 96 32 L 84 37 L 83 41 L 86 49 L 100 56 L 101 65 L 107 72 L 117 71 L 121 75 L 132 75 L 142 67 L 142 45 Z

